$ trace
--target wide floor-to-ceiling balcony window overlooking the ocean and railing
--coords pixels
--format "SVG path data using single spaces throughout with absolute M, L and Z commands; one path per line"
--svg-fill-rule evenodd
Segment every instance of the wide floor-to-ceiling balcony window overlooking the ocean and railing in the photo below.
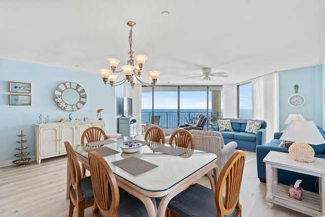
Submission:
M 221 91 L 222 86 L 156 86 L 154 91 L 143 86 L 142 123 L 152 122 L 154 115 L 160 116 L 161 127 L 178 128 L 201 113 L 208 117 L 205 128 L 209 129 L 222 116 Z

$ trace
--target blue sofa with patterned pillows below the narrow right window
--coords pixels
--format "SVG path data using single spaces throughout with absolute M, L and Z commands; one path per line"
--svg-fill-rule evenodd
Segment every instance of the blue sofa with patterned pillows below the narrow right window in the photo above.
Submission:
M 262 126 L 258 130 L 257 134 L 245 133 L 247 120 L 252 119 L 240 119 L 240 118 L 221 118 L 222 120 L 230 120 L 232 124 L 233 131 L 220 131 L 224 143 L 227 144 L 231 141 L 237 142 L 238 148 L 245 148 L 250 150 L 255 150 L 256 145 L 264 145 L 266 143 L 266 127 L 267 122 L 262 121 Z M 212 131 L 219 131 L 218 125 L 212 127 Z

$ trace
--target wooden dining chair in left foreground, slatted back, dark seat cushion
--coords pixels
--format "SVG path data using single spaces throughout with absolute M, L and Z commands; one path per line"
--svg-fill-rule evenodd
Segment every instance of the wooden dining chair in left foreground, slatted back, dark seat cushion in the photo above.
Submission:
M 148 216 L 138 198 L 119 190 L 115 175 L 101 154 L 88 154 L 90 177 L 94 192 L 92 216 Z

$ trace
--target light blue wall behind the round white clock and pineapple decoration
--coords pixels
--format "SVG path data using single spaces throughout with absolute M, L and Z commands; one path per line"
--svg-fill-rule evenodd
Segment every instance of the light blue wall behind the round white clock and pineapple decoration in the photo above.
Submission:
M 284 121 L 289 114 L 302 114 L 306 120 L 312 120 L 316 126 L 323 125 L 322 108 L 322 65 L 314 67 L 280 71 L 279 76 L 279 130 L 287 127 Z M 294 86 L 299 85 L 298 94 L 306 98 L 300 107 L 288 104 L 289 96 L 295 94 Z

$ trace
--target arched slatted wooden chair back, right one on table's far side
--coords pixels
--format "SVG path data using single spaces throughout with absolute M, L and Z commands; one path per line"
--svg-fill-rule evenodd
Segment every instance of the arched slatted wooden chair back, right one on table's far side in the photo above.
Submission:
M 177 131 L 175 131 L 172 134 L 171 139 L 169 140 L 169 144 L 173 145 L 173 142 L 175 142 L 175 146 L 183 148 L 188 148 L 188 145 L 190 144 L 190 149 L 194 149 L 193 136 L 187 130 L 178 129 Z

